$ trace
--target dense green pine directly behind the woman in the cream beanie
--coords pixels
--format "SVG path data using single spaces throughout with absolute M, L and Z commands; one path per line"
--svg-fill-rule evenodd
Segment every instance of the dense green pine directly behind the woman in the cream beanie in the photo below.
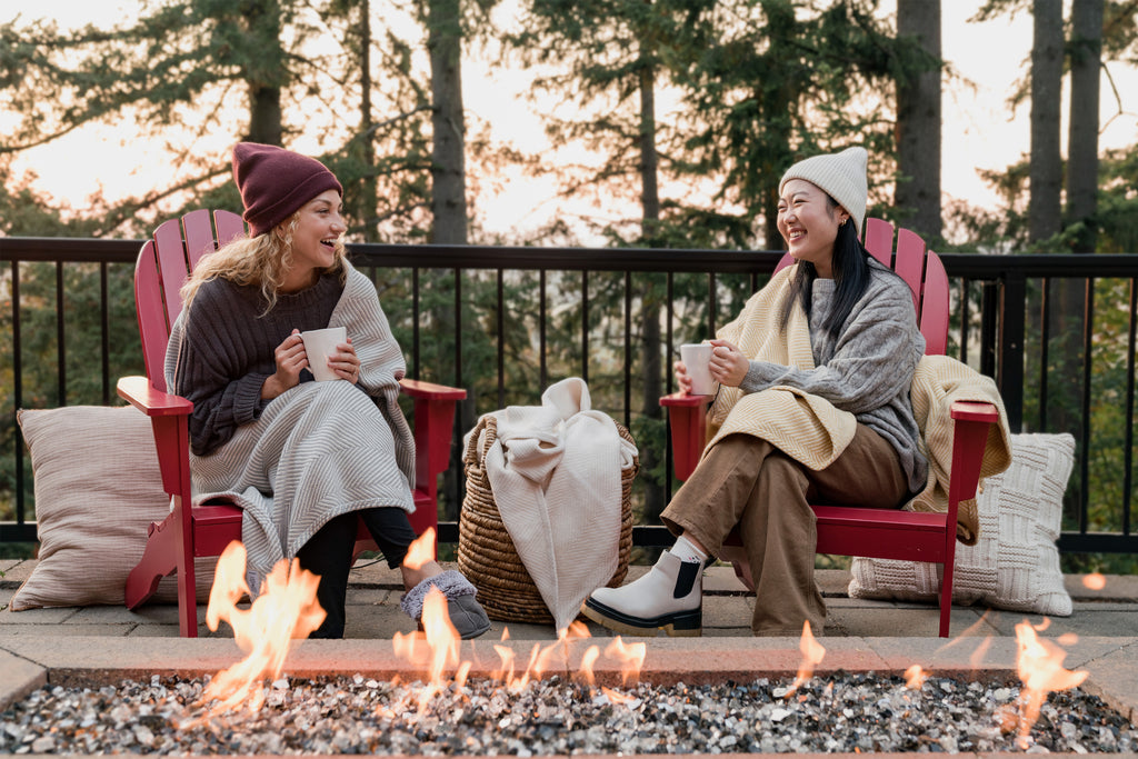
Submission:
M 782 247 L 778 180 L 806 156 L 861 145 L 871 200 L 892 206 L 881 187 L 896 159 L 894 83 L 938 61 L 914 39 L 897 38 L 877 5 L 721 2 L 691 26 L 683 49 L 695 55 L 677 80 L 693 119 L 687 171 L 718 179 L 718 203 L 761 220 L 757 237 L 767 249 Z

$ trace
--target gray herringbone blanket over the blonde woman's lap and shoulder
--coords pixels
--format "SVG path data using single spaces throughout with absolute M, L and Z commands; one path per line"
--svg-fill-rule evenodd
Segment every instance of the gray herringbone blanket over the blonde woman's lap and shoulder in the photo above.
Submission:
M 166 353 L 170 387 L 176 387 L 182 317 Z M 254 594 L 279 560 L 295 556 L 330 519 L 373 506 L 414 511 L 414 440 L 397 404 L 403 354 L 374 286 L 354 269 L 329 321 L 339 325 L 362 362 L 358 386 L 302 382 L 212 454 L 191 454 L 195 501 L 225 498 L 245 510 L 241 539 Z

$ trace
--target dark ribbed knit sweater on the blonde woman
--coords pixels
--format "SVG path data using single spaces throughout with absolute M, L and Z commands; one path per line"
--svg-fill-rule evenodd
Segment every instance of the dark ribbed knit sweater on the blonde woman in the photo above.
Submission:
M 175 393 L 193 402 L 193 453 L 212 453 L 239 426 L 261 415 L 269 403 L 261 399 L 261 387 L 277 371 L 273 352 L 294 329 L 328 327 L 343 291 L 337 274 L 324 274 L 311 288 L 280 295 L 262 316 L 265 300 L 257 288 L 217 278 L 198 289 L 174 385 Z M 300 381 L 312 379 L 308 370 L 300 372 Z

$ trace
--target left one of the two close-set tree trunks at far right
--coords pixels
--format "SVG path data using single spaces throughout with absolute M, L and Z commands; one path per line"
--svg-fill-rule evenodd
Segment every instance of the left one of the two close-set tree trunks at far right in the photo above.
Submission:
M 1059 110 L 1063 84 L 1063 0 L 1032 0 L 1031 199 L 1028 233 L 1040 242 L 1062 228 L 1063 158 Z

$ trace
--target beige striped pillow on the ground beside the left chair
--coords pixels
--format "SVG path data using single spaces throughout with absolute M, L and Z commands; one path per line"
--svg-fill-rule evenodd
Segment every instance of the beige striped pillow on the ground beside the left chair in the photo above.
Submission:
M 131 406 L 22 410 L 17 419 L 35 477 L 40 552 L 11 610 L 124 603 L 147 528 L 170 511 L 149 419 Z M 197 561 L 200 602 L 215 563 Z M 176 601 L 176 589 L 167 577 L 152 600 Z

